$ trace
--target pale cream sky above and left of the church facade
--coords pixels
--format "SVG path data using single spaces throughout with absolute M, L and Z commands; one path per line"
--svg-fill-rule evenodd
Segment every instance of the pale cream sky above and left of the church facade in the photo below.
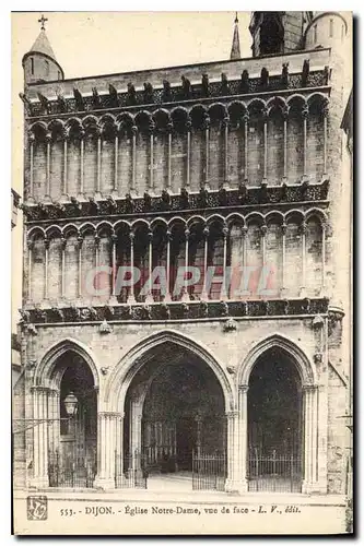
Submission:
M 235 12 L 44 12 L 66 79 L 230 58 Z M 22 58 L 40 32 L 39 12 L 11 14 L 12 188 L 23 188 Z M 250 12 L 238 12 L 240 54 L 250 57 Z M 12 331 L 22 305 L 22 214 L 12 232 Z

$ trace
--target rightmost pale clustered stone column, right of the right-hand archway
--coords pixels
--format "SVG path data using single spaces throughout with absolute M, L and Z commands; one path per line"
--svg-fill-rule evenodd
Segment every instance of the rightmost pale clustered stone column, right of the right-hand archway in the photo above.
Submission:
M 304 391 L 304 494 L 320 492 L 318 484 L 318 388 L 305 385 Z

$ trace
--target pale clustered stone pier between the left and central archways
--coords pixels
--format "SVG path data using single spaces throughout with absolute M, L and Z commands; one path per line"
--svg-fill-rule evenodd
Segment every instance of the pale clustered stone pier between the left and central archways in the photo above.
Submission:
M 115 488 L 116 423 L 119 414 L 101 412 L 97 415 L 97 475 L 94 487 Z

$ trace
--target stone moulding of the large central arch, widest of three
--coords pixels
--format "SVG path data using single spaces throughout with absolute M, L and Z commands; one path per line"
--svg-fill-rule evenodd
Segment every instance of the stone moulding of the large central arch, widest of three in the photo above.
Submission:
M 222 364 L 211 354 L 209 348 L 175 330 L 164 330 L 144 337 L 121 358 L 110 375 L 105 389 L 104 402 L 109 406 L 109 410 L 124 412 L 125 397 L 132 379 L 153 357 L 153 348 L 168 342 L 189 349 L 212 369 L 224 394 L 225 411 L 233 410 L 235 406 L 234 391 Z

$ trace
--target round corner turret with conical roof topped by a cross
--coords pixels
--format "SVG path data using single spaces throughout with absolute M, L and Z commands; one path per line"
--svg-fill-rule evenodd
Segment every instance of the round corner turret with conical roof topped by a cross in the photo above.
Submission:
M 46 21 L 47 19 L 42 15 L 39 19 L 40 33 L 31 50 L 23 57 L 25 86 L 30 83 L 51 82 L 64 79 L 63 69 L 57 62 L 46 34 Z

